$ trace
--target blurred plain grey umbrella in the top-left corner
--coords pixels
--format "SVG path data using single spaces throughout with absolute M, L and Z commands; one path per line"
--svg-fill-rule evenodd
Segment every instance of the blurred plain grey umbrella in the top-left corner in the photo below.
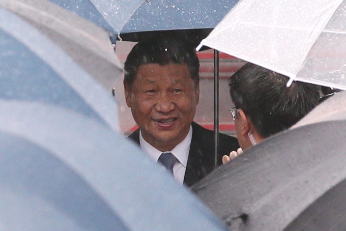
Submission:
M 0 0 L 0 6 L 38 28 L 111 92 L 123 69 L 106 31 L 47 0 Z

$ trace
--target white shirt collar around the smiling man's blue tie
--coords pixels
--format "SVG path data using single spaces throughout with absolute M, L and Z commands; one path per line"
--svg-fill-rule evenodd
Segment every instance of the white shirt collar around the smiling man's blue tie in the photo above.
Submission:
M 192 126 L 190 125 L 190 130 L 187 136 L 178 143 L 174 149 L 169 151 L 172 153 L 179 162 L 186 167 L 187 165 L 187 159 L 189 157 L 189 151 L 190 151 L 190 145 L 192 140 Z M 143 151 L 145 151 L 155 162 L 159 159 L 162 152 L 156 148 L 154 148 L 150 143 L 148 143 L 142 136 L 142 133 L 139 131 L 139 144 Z

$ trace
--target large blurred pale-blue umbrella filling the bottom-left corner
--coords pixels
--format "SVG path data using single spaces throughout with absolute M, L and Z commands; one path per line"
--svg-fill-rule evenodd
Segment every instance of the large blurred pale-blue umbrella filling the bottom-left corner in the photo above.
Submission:
M 129 140 L 52 105 L 0 100 L 5 230 L 224 230 Z

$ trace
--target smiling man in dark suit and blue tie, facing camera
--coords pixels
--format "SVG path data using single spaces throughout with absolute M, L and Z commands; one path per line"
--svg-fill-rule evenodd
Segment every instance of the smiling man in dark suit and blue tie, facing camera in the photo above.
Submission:
M 214 133 L 193 122 L 199 100 L 194 48 L 177 40 L 139 42 L 124 69 L 126 103 L 139 126 L 129 138 L 187 186 L 208 175 Z M 219 135 L 220 156 L 238 148 L 236 138 Z

